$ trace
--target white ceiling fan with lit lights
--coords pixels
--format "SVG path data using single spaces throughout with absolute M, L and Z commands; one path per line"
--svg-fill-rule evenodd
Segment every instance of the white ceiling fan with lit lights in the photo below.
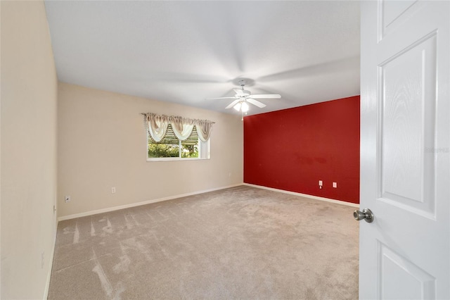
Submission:
M 241 111 L 242 113 L 247 113 L 248 108 L 250 106 L 248 105 L 253 104 L 255 106 L 258 106 L 259 108 L 266 107 L 266 104 L 263 104 L 262 102 L 259 102 L 255 99 L 280 99 L 281 95 L 278 94 L 259 94 L 259 95 L 252 95 L 250 91 L 245 90 L 245 84 L 247 83 L 247 80 L 240 79 L 238 80 L 238 85 L 240 85 L 240 89 L 233 89 L 234 92 L 236 92 L 236 95 L 233 97 L 221 97 L 221 98 L 211 98 L 211 99 L 235 99 L 229 106 L 226 106 L 226 108 L 234 108 L 236 111 Z

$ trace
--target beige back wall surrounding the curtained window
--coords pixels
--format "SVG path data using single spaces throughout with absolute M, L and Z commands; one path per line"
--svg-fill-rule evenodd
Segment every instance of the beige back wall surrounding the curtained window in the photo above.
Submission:
M 58 217 L 243 182 L 240 116 L 58 86 Z M 211 158 L 147 162 L 141 115 L 146 112 L 214 121 Z M 65 195 L 71 196 L 70 203 L 64 203 Z

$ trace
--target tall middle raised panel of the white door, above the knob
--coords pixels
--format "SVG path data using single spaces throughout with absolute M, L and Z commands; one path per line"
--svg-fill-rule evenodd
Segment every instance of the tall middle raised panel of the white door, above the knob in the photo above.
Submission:
M 381 201 L 435 218 L 436 35 L 379 66 Z

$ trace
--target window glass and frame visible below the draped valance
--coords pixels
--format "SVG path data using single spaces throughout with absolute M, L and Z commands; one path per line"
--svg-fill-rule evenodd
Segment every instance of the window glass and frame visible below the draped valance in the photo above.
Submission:
M 150 132 L 147 132 L 147 139 L 148 160 L 150 161 L 159 161 L 158 158 L 169 158 L 165 160 L 170 160 L 170 158 L 210 158 L 210 140 L 202 142 L 198 138 L 196 126 L 184 141 L 176 137 L 172 124 L 167 125 L 166 134 L 160 142 L 155 142 Z

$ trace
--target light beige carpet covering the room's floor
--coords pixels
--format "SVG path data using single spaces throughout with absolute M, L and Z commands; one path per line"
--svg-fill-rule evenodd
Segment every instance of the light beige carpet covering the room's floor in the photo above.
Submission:
M 49 299 L 357 299 L 353 211 L 240 186 L 66 220 Z

